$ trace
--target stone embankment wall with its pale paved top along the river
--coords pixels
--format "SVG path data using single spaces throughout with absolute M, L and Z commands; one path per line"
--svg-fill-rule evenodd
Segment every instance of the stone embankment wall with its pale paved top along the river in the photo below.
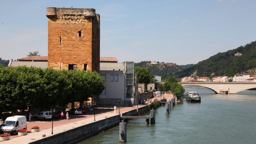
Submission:
M 84 119 L 78 122 L 70 123 L 53 128 L 31 133 L 26 136 L 17 137 L 0 144 L 74 144 L 88 137 L 94 136 L 106 129 L 112 128 L 119 124 L 121 116 L 136 116 L 148 111 L 148 106 L 123 112 L 122 114 L 106 113 L 94 118 Z M 42 137 L 42 135 L 46 137 Z

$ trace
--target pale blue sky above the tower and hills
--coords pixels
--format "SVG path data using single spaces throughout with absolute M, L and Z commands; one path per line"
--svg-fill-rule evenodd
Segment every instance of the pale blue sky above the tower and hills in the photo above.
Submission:
M 100 56 L 196 64 L 256 40 L 255 0 L 0 1 L 0 57 L 48 55 L 47 7 L 94 8 Z M 3 23 L 3 24 L 2 24 Z

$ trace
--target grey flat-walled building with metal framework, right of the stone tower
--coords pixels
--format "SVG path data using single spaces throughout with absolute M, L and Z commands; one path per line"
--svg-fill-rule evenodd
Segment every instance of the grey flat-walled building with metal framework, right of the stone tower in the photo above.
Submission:
M 130 105 L 133 103 L 133 61 L 100 62 L 100 76 L 105 80 L 106 89 L 99 95 L 99 103 L 115 104 L 118 100 L 130 101 Z

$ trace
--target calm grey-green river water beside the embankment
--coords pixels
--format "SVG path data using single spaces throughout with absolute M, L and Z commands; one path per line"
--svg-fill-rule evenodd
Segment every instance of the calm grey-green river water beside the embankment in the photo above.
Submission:
M 165 114 L 165 106 L 160 106 L 155 124 L 146 125 L 144 119 L 130 120 L 127 143 L 256 143 L 256 91 L 245 90 L 230 96 L 214 94 L 207 88 L 186 88 L 186 91 L 199 92 L 201 103 L 183 99 L 170 114 Z M 78 144 L 116 143 L 119 143 L 119 126 Z

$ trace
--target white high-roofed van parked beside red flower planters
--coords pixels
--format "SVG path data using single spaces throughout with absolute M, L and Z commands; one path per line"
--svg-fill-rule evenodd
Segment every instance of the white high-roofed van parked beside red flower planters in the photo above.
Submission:
M 26 116 L 12 116 L 6 118 L 0 132 L 15 135 L 21 129 L 27 129 Z

